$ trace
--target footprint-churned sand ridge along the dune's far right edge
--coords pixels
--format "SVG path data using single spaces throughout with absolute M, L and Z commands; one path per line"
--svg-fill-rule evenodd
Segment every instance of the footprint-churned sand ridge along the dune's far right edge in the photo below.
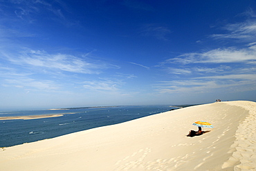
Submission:
M 256 168 L 256 105 L 248 101 L 232 101 L 229 105 L 236 105 L 249 111 L 249 115 L 239 125 L 235 133 L 235 142 L 231 145 L 232 156 L 223 163 L 222 168 L 235 165 L 235 170 L 255 170 Z

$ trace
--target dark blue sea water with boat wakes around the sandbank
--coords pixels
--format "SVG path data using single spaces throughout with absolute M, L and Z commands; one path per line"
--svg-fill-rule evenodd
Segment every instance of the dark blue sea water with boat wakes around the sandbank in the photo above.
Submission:
M 175 108 L 168 105 L 141 105 L 0 112 L 0 117 L 72 113 L 64 114 L 63 117 L 44 119 L 2 120 L 0 121 L 0 147 L 51 139 L 72 132 L 131 121 L 171 109 Z

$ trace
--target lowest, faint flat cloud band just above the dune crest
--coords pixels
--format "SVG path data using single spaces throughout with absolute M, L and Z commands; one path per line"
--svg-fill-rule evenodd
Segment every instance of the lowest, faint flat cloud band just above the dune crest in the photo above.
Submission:
M 161 81 L 156 85 L 161 93 L 189 93 L 189 92 L 244 92 L 256 90 L 255 74 L 229 74 L 212 77 L 194 77 L 186 80 Z

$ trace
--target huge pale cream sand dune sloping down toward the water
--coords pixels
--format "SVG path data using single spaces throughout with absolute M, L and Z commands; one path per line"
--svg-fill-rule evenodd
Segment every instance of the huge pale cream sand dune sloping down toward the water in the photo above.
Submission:
M 196 105 L 3 148 L 0 170 L 256 170 L 255 126 L 255 102 Z

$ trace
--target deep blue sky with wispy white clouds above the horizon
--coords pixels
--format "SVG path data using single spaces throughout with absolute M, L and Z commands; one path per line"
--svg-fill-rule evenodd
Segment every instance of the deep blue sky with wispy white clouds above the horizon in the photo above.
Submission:
M 256 1 L 0 0 L 0 108 L 256 100 Z

